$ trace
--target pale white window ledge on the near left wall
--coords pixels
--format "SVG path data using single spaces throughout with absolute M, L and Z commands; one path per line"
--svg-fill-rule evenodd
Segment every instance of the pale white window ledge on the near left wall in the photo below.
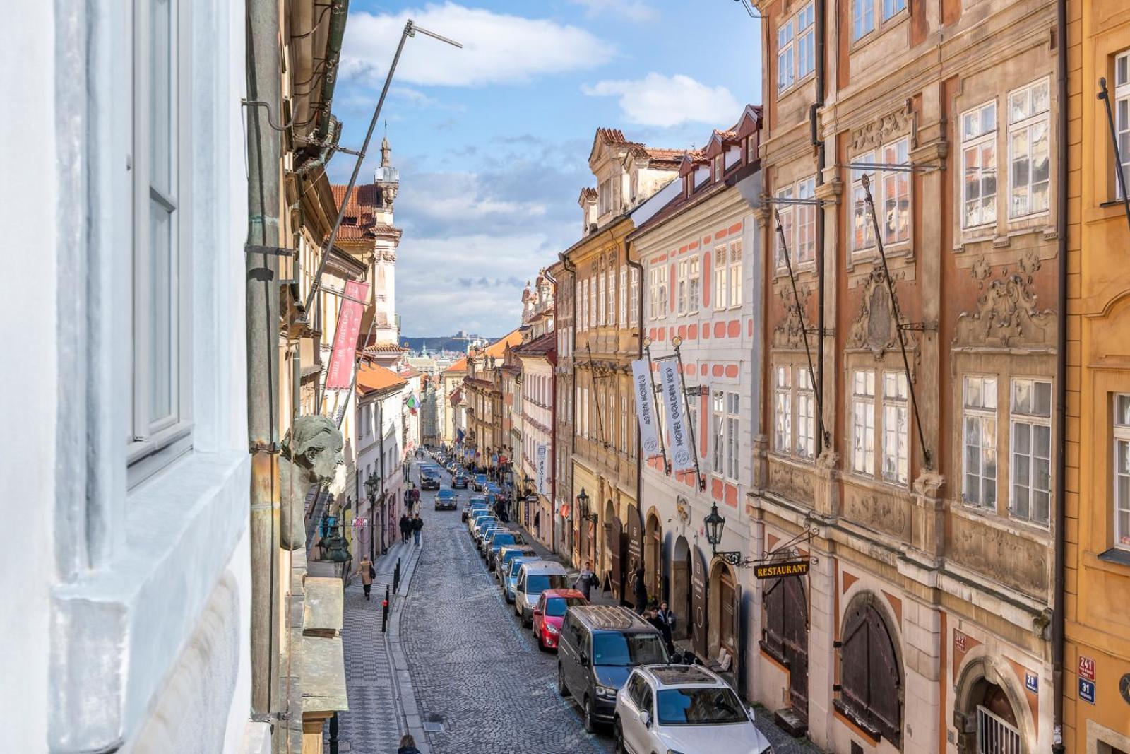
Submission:
M 114 558 L 55 589 L 52 751 L 112 751 L 136 731 L 246 536 L 250 484 L 246 451 L 190 453 L 127 495 Z

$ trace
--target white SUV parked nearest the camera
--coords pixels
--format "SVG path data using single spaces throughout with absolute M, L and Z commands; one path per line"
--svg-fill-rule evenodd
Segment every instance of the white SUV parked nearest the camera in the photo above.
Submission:
M 733 690 L 698 665 L 644 665 L 616 694 L 616 751 L 773 754 Z

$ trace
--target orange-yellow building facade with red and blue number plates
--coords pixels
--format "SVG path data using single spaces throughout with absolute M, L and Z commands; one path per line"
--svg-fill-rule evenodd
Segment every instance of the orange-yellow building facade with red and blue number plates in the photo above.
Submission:
M 1130 752 L 1130 216 L 1118 174 L 1130 182 L 1130 8 L 1068 9 L 1079 104 L 1068 112 L 1063 739 L 1069 752 L 1118 754 Z

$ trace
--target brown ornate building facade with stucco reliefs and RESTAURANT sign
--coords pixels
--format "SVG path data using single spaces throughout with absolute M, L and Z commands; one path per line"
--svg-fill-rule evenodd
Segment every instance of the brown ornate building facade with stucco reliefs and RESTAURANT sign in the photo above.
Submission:
M 1049 751 L 1055 5 L 757 6 L 750 548 L 814 560 L 748 577 L 747 683 L 835 752 Z

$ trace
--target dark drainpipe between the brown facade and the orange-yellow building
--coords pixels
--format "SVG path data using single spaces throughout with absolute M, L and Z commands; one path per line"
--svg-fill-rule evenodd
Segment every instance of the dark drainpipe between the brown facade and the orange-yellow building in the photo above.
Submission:
M 1067 211 L 1068 211 L 1068 113 L 1067 113 L 1067 0 L 1055 0 L 1055 94 L 1059 99 L 1055 145 L 1055 245 L 1059 253 L 1055 318 L 1055 582 L 1052 595 L 1052 751 L 1062 754 L 1063 745 L 1063 566 L 1067 453 L 1063 449 L 1067 417 Z

